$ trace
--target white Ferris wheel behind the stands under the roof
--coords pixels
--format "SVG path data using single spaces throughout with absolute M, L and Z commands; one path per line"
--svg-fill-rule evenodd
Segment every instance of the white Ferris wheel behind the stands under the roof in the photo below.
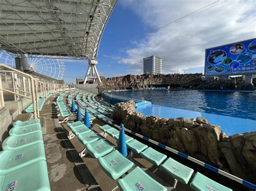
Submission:
M 0 63 L 4 63 L 15 68 L 14 53 L 0 51 Z M 33 72 L 52 77 L 57 80 L 63 80 L 65 75 L 65 65 L 60 59 L 45 59 L 39 57 L 28 58 L 29 69 Z

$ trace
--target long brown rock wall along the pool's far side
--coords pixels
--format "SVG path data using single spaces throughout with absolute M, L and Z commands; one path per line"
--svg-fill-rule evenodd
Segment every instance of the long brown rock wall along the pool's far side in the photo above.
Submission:
M 242 77 L 231 77 L 230 80 L 203 81 L 203 74 L 144 74 L 126 75 L 102 79 L 98 83 L 98 91 L 120 90 L 120 89 L 141 89 L 149 87 L 184 87 L 199 89 L 220 89 L 224 90 L 253 90 L 253 84 L 245 83 Z

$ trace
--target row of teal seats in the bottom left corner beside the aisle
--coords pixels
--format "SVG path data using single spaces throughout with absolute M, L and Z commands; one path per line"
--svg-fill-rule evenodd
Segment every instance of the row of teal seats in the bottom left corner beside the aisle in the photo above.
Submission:
M 17 121 L 0 152 L 1 190 L 50 190 L 40 119 Z

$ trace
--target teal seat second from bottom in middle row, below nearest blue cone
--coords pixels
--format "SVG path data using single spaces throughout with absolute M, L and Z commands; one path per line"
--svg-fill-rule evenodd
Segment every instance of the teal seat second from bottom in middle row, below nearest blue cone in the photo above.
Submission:
M 98 162 L 103 171 L 114 180 L 117 180 L 134 165 L 132 161 L 126 159 L 117 150 L 105 155 L 104 157 L 99 157 Z

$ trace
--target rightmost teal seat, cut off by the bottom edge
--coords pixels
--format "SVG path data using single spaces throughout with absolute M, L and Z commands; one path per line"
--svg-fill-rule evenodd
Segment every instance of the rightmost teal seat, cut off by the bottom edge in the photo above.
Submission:
M 197 191 L 200 191 L 200 190 L 232 191 L 232 189 L 225 187 L 220 183 L 207 178 L 205 175 L 199 172 L 197 172 L 196 175 L 194 175 L 194 178 L 190 183 L 190 187 L 193 190 L 197 190 Z

